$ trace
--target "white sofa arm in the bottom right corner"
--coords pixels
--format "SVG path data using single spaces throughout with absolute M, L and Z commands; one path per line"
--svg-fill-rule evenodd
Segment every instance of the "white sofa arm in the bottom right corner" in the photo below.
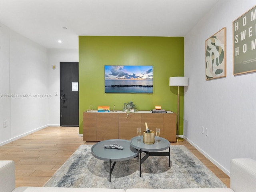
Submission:
M 231 160 L 230 188 L 234 192 L 256 191 L 256 160 L 249 158 Z

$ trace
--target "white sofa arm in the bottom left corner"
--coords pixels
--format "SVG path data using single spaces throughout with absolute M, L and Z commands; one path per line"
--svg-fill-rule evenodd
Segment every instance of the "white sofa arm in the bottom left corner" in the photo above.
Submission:
M 15 189 L 14 161 L 0 161 L 0 192 L 12 192 Z

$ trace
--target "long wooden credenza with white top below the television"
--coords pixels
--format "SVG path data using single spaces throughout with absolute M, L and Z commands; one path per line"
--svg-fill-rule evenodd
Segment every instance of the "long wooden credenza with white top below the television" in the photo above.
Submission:
M 160 137 L 170 142 L 176 141 L 176 113 L 136 113 L 117 112 L 84 112 L 84 141 L 102 141 L 107 139 L 126 139 L 137 136 L 137 128 L 146 130 L 147 122 L 150 130 L 160 128 Z M 143 133 L 142 133 L 143 134 Z

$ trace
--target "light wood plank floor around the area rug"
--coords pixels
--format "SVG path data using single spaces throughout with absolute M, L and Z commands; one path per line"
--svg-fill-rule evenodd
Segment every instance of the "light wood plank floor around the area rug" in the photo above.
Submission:
M 1 146 L 0 160 L 15 162 L 16 187 L 43 186 L 81 144 L 94 143 L 84 142 L 78 127 L 47 127 Z M 230 187 L 230 178 L 186 140 L 171 145 L 186 146 Z

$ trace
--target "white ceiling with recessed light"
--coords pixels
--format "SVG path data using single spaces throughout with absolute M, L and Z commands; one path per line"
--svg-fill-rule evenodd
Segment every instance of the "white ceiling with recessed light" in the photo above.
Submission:
M 217 1 L 1 0 L 0 19 L 45 48 L 78 48 L 78 36 L 185 36 Z

